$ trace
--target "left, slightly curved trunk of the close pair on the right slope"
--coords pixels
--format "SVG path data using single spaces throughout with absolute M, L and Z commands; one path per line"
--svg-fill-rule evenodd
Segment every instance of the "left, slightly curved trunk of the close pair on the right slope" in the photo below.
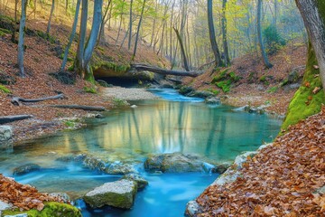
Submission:
M 215 57 L 216 65 L 222 66 L 223 62 L 221 61 L 220 52 L 218 50 L 218 43 L 216 41 L 216 33 L 213 24 L 212 0 L 208 0 L 208 23 L 209 23 L 209 39 L 211 42 L 211 49 Z

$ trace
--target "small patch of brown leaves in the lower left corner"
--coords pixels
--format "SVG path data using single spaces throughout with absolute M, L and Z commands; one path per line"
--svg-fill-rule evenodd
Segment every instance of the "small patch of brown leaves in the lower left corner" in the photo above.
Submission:
M 60 202 L 60 197 L 49 196 L 39 193 L 36 188 L 29 184 L 19 184 L 12 178 L 6 178 L 0 174 L 0 201 L 12 203 L 21 210 L 37 209 L 42 211 L 44 202 Z

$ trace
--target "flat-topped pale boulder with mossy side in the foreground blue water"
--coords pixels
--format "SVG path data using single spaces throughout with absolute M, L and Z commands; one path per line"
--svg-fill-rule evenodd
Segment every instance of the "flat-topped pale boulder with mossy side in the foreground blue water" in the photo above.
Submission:
M 84 200 L 91 207 L 110 205 L 122 209 L 130 209 L 135 201 L 137 184 L 130 180 L 119 180 L 103 184 L 86 193 Z

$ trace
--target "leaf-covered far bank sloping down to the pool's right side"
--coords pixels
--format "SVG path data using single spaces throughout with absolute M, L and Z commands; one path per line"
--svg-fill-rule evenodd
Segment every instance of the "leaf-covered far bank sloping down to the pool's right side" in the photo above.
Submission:
M 291 42 L 270 56 L 270 61 L 274 64 L 271 69 L 265 69 L 261 58 L 254 55 L 247 54 L 233 60 L 229 68 L 220 70 L 221 72 L 233 71 L 240 78 L 231 84 L 230 91 L 227 93 L 218 89 L 213 83 L 213 79 L 220 74 L 220 71 L 213 71 L 214 67 L 198 78 L 183 79 L 183 84 L 196 90 L 219 91 L 218 96 L 222 102 L 231 106 L 265 105 L 267 111 L 284 116 L 302 80 L 307 61 L 306 53 L 306 45 Z M 295 78 L 292 80 L 291 76 Z M 283 81 L 288 79 L 292 81 L 282 86 Z

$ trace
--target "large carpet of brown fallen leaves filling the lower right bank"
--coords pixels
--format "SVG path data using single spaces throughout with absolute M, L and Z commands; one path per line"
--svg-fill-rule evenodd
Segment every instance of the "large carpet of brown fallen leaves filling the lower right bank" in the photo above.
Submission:
M 325 216 L 325 107 L 252 159 L 233 184 L 212 185 L 200 216 Z

